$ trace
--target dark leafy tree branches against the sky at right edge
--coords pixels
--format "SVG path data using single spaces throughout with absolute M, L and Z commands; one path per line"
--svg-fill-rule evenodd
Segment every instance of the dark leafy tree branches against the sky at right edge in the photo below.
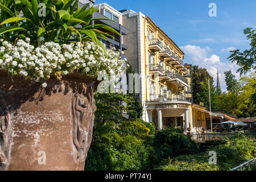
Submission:
M 228 57 L 232 63 L 237 63 L 240 66 L 237 70 L 240 75 L 249 72 L 251 69 L 256 69 L 256 30 L 245 28 L 243 33 L 246 35 L 247 40 L 250 39 L 251 48 L 243 52 L 240 52 L 240 49 L 230 51 L 231 54 Z

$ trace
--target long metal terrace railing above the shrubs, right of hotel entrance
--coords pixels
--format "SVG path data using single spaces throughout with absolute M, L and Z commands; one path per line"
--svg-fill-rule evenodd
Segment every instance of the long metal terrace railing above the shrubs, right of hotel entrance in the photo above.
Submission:
M 222 140 L 226 138 L 232 138 L 236 133 L 203 133 L 203 134 L 192 134 L 191 137 L 196 142 L 206 142 L 213 140 Z M 248 139 L 256 139 L 256 133 L 243 133 Z

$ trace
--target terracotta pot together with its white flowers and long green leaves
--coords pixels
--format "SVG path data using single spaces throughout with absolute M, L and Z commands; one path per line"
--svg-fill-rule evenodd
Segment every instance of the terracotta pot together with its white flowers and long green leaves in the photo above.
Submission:
M 96 78 L 125 62 L 98 28 L 118 32 L 78 0 L 0 2 L 0 170 L 84 170 Z

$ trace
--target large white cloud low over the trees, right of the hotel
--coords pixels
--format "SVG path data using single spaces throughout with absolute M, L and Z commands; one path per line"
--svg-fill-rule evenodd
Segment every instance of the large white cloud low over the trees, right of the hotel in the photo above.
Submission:
M 209 74 L 214 78 L 214 84 L 217 84 L 217 71 L 220 73 L 220 84 L 222 91 L 226 91 L 225 75 L 224 72 L 231 70 L 237 79 L 240 78 L 239 73 L 236 73 L 238 66 L 235 63 L 223 62 L 220 56 L 210 55 L 210 48 L 199 46 L 181 46 L 181 50 L 185 53 L 185 63 L 192 65 L 199 65 L 201 68 L 206 68 Z M 227 48 L 228 49 L 228 48 Z

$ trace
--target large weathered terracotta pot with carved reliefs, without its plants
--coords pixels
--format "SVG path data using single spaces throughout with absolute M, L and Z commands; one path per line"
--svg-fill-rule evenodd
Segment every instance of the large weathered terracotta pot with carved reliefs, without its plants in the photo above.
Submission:
M 96 85 L 74 73 L 43 89 L 0 71 L 0 170 L 84 170 Z

